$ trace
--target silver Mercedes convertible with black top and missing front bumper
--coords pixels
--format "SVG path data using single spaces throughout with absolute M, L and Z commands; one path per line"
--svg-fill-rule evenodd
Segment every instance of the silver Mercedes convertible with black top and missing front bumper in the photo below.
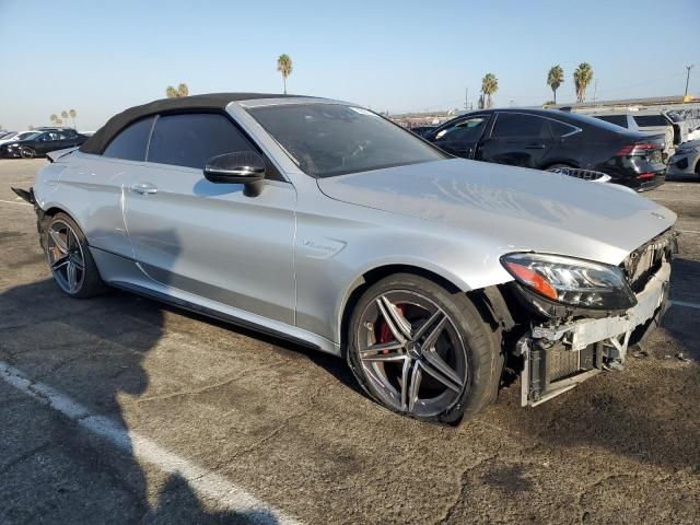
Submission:
M 65 293 L 116 287 L 345 357 L 421 420 L 476 413 L 504 370 L 534 406 L 621 369 L 667 302 L 672 211 L 454 159 L 353 104 L 156 101 L 49 159 L 16 191 Z

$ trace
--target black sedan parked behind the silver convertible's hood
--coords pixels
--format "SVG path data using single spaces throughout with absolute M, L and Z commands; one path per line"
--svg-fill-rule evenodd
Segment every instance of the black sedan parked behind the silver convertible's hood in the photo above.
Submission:
M 472 112 L 423 138 L 465 159 L 537 170 L 592 170 L 638 190 L 660 186 L 666 173 L 663 136 L 555 109 Z

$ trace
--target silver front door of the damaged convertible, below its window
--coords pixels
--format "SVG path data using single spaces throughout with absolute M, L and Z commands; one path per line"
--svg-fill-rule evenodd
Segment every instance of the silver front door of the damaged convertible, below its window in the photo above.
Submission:
M 294 209 L 289 183 L 258 197 L 201 170 L 147 163 L 128 182 L 126 223 L 151 278 L 283 323 L 294 323 Z

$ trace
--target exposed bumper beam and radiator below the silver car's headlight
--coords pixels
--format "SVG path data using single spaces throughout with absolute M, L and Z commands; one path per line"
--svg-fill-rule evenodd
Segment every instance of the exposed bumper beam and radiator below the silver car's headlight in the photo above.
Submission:
M 670 262 L 665 260 L 637 293 L 637 305 L 623 315 L 533 327 L 516 349 L 524 359 L 521 405 L 537 406 L 625 362 L 632 334 L 641 331 L 643 338 L 658 326 L 669 280 Z

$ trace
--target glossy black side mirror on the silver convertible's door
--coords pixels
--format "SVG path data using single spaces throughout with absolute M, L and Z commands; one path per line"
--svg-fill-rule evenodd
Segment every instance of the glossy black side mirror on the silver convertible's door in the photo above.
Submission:
M 262 191 L 265 161 L 254 151 L 236 151 L 209 159 L 205 177 L 215 184 L 244 184 L 243 194 L 257 197 Z

